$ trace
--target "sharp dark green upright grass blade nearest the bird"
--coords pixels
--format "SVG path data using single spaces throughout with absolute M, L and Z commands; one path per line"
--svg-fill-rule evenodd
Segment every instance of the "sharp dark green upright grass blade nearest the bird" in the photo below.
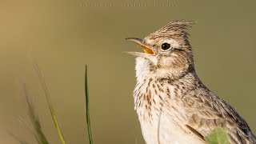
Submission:
M 93 144 L 93 136 L 90 128 L 90 110 L 89 110 L 89 94 L 88 94 L 88 84 L 87 84 L 87 66 L 85 74 L 85 94 L 86 94 L 86 122 L 87 122 L 87 132 L 89 136 L 90 144 Z

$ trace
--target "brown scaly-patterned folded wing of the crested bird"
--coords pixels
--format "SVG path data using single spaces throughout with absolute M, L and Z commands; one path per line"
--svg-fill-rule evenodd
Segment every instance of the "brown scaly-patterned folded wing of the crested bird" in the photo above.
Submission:
M 206 137 L 211 130 L 220 126 L 226 129 L 231 144 L 256 143 L 245 120 L 210 90 L 204 88 L 191 91 L 182 97 L 182 105 L 187 113 L 186 126 L 190 133 Z

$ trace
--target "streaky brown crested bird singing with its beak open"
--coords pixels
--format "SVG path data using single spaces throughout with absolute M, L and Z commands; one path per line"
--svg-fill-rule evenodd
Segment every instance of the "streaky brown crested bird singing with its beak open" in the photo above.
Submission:
M 146 144 L 204 144 L 217 127 L 230 144 L 256 137 L 238 111 L 210 91 L 194 68 L 190 34 L 194 21 L 177 20 L 145 38 L 126 38 L 143 52 L 135 56 L 134 109 Z

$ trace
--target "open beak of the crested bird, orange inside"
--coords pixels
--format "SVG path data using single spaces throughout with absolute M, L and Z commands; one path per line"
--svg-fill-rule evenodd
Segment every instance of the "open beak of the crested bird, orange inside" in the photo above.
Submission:
M 139 52 L 125 52 L 126 54 L 132 54 L 135 56 L 141 56 L 141 57 L 145 57 L 146 55 L 153 55 L 154 54 L 154 50 L 150 49 L 148 46 L 146 46 L 142 41 L 142 39 L 140 38 L 126 38 L 127 40 L 131 41 L 131 42 L 135 42 L 137 43 L 139 46 L 142 47 L 142 49 L 144 50 L 144 53 L 139 53 Z

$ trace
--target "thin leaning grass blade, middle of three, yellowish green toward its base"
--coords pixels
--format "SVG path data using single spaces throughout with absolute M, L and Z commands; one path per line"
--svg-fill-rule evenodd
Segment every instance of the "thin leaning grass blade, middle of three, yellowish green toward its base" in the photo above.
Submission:
M 48 107 L 49 107 L 49 110 L 50 110 L 50 114 L 51 114 L 51 117 L 53 119 L 53 122 L 54 122 L 54 126 L 58 132 L 58 137 L 60 138 L 62 144 L 66 144 L 66 141 L 64 139 L 64 136 L 62 134 L 62 130 L 61 130 L 61 127 L 59 126 L 59 123 L 58 123 L 58 119 L 56 117 L 56 114 L 54 112 L 54 108 L 51 104 L 51 101 L 50 101 L 50 94 L 49 94 L 49 91 L 47 89 L 47 86 L 46 86 L 46 82 L 44 81 L 44 79 L 42 78 L 42 73 L 41 71 L 39 70 L 39 67 L 38 67 L 38 64 L 36 62 L 34 62 L 34 68 L 35 70 L 37 71 L 37 74 L 38 74 L 38 78 L 41 82 L 41 85 L 42 85 L 42 89 L 44 90 L 45 92 L 45 96 L 46 96 L 46 100 L 47 100 L 47 104 L 48 104 Z

